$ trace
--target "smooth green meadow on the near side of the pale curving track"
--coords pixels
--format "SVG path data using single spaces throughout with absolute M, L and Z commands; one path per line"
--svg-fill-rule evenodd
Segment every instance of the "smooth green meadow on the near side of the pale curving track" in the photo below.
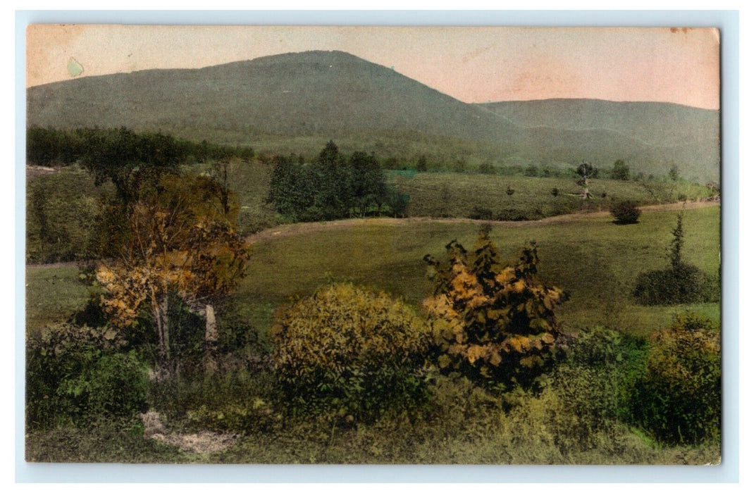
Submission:
M 643 212 L 639 224 L 619 226 L 610 217 L 583 217 L 560 224 L 513 223 L 491 233 L 504 258 L 514 258 L 525 242 L 539 247 L 540 277 L 570 293 L 562 305 L 562 323 L 571 330 L 592 325 L 631 334 L 647 334 L 687 307 L 641 307 L 630 298 L 640 272 L 667 265 L 675 211 Z M 351 281 L 401 296 L 419 305 L 428 295 L 425 254 L 441 255 L 458 239 L 472 245 L 480 221 L 357 222 L 345 230 L 318 230 L 257 242 L 245 280 L 235 298 L 243 315 L 262 334 L 273 310 L 294 296 L 306 296 L 321 284 Z M 720 208 L 684 212 L 685 260 L 717 275 Z M 74 267 L 39 266 L 27 270 L 27 319 L 36 328 L 67 316 L 88 297 Z M 690 307 L 718 318 L 718 304 Z

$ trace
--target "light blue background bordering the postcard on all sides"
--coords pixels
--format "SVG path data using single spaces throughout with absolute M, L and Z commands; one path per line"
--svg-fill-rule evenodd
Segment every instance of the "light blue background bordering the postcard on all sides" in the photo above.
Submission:
M 25 341 L 25 26 L 609 25 L 721 28 L 724 433 L 718 466 L 378 466 L 28 464 L 23 454 Z M 739 13 L 736 11 L 19 11 L 16 12 L 16 481 L 108 483 L 682 483 L 739 480 Z

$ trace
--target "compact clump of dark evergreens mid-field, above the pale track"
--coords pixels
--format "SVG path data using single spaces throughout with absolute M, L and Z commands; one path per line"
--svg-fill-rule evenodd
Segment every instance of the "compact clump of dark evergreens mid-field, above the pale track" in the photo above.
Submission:
M 376 156 L 339 153 L 329 141 L 315 161 L 279 156 L 267 202 L 296 221 L 322 221 L 366 215 L 402 217 L 408 196 L 386 183 Z

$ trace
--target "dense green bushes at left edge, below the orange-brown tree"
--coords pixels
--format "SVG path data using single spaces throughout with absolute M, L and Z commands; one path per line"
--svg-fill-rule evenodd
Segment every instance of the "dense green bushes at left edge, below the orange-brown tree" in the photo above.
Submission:
M 26 341 L 26 423 L 132 417 L 145 405 L 148 370 L 111 328 L 43 328 Z

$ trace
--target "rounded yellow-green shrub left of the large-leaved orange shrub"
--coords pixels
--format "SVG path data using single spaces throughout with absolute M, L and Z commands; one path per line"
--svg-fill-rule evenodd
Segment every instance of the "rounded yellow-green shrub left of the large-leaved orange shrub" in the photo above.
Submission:
M 413 408 L 427 391 L 418 375 L 428 328 L 383 293 L 333 284 L 286 308 L 273 325 L 279 383 L 291 411 L 374 420 Z

